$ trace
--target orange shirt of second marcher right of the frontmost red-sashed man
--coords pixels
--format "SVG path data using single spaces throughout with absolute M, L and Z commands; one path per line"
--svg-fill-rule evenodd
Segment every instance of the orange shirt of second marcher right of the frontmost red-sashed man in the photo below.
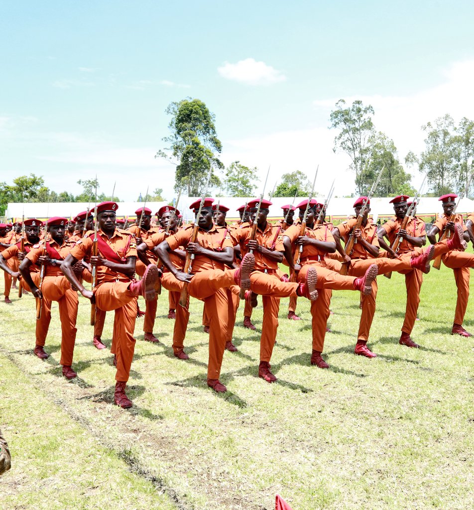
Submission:
M 234 245 L 240 244 L 242 257 L 244 257 L 249 251 L 248 242 L 252 236 L 252 225 L 243 223 L 240 228 L 235 228 L 230 235 Z M 257 227 L 255 240 L 260 246 L 264 246 L 270 251 L 284 251 L 282 232 L 279 225 L 272 225 L 267 221 L 263 232 Z M 277 261 L 269 259 L 258 251 L 254 251 L 253 254 L 255 256 L 255 269 L 258 271 L 278 269 Z

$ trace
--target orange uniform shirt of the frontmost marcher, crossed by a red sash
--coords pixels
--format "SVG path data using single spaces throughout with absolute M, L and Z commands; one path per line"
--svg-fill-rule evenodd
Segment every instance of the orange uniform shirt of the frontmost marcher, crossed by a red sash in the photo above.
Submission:
M 127 257 L 137 257 L 137 245 L 135 240 L 131 238 L 131 234 L 125 231 L 118 231 L 115 229 L 114 235 L 109 239 L 106 234 L 102 231 L 97 231 L 97 236 L 106 242 L 109 247 L 117 253 L 120 258 L 126 259 Z M 94 244 L 94 233 L 88 232 L 83 239 L 76 241 L 73 248 L 71 249 L 71 255 L 74 259 L 83 260 L 92 256 L 92 246 Z M 103 257 L 100 253 L 100 249 L 97 250 L 98 254 Z M 130 278 L 125 274 L 114 271 L 106 266 L 97 266 L 97 284 L 102 282 L 129 282 Z

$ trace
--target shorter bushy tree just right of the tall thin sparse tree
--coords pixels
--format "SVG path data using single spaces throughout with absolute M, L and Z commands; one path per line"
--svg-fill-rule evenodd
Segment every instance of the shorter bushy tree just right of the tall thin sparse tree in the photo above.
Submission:
M 364 194 L 370 190 L 380 170 L 385 166 L 374 196 L 413 195 L 411 175 L 400 163 L 397 147 L 384 133 L 373 133 L 368 139 L 368 164 Z

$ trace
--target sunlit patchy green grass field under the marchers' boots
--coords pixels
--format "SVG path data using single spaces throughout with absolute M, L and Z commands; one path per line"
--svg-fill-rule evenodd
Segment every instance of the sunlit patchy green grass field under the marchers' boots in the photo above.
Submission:
M 3 286 L 3 277 L 1 278 Z M 2 287 L 3 292 L 3 287 Z M 12 469 L 0 478 L 0 507 L 67 509 L 264 509 L 275 493 L 294 510 L 474 507 L 474 340 L 451 336 L 452 271 L 425 277 L 412 338 L 398 344 L 404 277 L 379 277 L 369 345 L 354 356 L 359 296 L 336 292 L 326 335 L 329 370 L 311 367 L 309 304 L 300 322 L 280 326 L 272 367 L 279 382 L 257 377 L 259 333 L 240 326 L 239 352 L 224 355 L 218 395 L 205 385 L 207 335 L 202 303 L 192 302 L 188 362 L 174 358 L 168 296 L 160 296 L 155 335 L 143 341 L 137 319 L 130 410 L 112 405 L 115 369 L 92 345 L 88 303 L 80 298 L 74 353 L 78 373 L 61 375 L 57 303 L 46 341 L 33 355 L 31 295 L 0 303 L 0 427 Z M 144 310 L 144 302 L 140 305 Z M 474 330 L 469 304 L 466 329 Z M 261 305 L 253 321 L 261 327 Z M 102 339 L 110 346 L 113 314 Z

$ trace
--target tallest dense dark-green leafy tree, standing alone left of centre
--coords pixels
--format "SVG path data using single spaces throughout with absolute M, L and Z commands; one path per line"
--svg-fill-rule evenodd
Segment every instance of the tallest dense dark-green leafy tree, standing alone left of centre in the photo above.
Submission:
M 190 97 L 171 103 L 166 109 L 171 115 L 168 125 L 171 135 L 163 141 L 169 143 L 159 150 L 155 158 L 164 158 L 176 165 L 175 190 L 183 190 L 188 196 L 200 196 L 204 190 L 209 168 L 213 168 L 210 187 L 220 186 L 214 169 L 224 165 L 216 156 L 222 151 L 217 137 L 215 115 L 200 99 Z

